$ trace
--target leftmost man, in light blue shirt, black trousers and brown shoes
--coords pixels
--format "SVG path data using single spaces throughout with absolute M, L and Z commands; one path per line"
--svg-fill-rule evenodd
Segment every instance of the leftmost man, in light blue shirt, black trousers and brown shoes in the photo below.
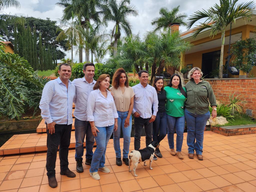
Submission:
M 76 100 L 76 88 L 69 80 L 71 66 L 62 63 L 59 77 L 45 84 L 39 104 L 41 116 L 47 127 L 46 170 L 49 186 L 57 187 L 55 165 L 59 147 L 60 174 L 76 177 L 68 168 L 68 148 L 72 130 L 72 106 Z

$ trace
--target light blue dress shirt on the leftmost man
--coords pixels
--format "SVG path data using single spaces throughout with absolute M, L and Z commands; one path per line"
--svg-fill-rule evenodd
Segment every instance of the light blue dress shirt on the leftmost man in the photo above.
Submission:
M 72 108 L 75 101 L 76 87 L 68 80 L 67 89 L 58 77 L 45 84 L 39 104 L 41 116 L 47 124 L 55 122 L 70 125 L 73 123 Z

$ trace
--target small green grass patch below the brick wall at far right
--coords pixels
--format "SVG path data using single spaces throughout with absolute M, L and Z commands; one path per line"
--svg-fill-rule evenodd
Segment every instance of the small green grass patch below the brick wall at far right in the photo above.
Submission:
M 225 124 L 225 125 L 216 125 L 216 126 L 234 126 L 234 125 L 251 125 L 251 124 L 256 124 L 255 120 L 252 120 L 251 117 L 242 114 L 235 114 L 235 117 L 232 119 L 227 119 L 227 121 L 229 121 L 229 123 Z

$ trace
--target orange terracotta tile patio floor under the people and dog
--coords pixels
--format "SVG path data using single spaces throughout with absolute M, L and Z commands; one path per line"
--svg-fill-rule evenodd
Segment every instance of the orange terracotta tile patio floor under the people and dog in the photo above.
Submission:
M 74 131 L 72 136 L 73 133 Z M 12 149 L 9 145 L 20 147 L 27 143 L 36 146 L 39 142 L 45 142 L 42 140 L 46 137 L 42 133 L 40 137 L 36 134 L 27 134 L 12 138 L 5 147 Z M 187 157 L 186 134 L 182 150 L 183 160 L 170 155 L 166 137 L 160 146 L 164 157 L 153 161 L 153 170 L 149 169 L 149 163 L 146 167 L 140 163 L 136 169 L 138 177 L 134 177 L 133 172 L 128 172 L 126 165 L 115 165 L 113 140 L 109 141 L 105 163 L 111 172 L 99 172 L 100 180 L 91 178 L 88 165 L 84 165 L 83 173 L 75 171 L 75 151 L 71 149 L 69 168 L 76 173 L 76 177 L 68 178 L 59 174 L 60 162 L 57 156 L 58 187 L 54 189 L 48 186 L 45 170 L 46 152 L 0 156 L 0 191 L 256 191 L 256 134 L 225 137 L 207 131 L 204 138 L 204 160 L 199 161 L 196 157 Z M 20 140 L 23 142 L 13 142 Z M 130 150 L 134 148 L 133 140 L 131 138 Z M 122 142 L 121 139 L 121 149 Z M 145 145 L 145 137 L 142 137 L 141 143 L 142 146 Z

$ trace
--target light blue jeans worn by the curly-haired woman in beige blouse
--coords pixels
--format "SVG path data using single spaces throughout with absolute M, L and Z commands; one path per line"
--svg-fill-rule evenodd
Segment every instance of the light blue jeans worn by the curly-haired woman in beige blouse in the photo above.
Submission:
M 130 125 L 127 128 L 125 128 L 124 121 L 127 118 L 128 111 L 126 112 L 117 111 L 117 113 L 118 113 L 118 122 L 117 122 L 118 129 L 113 132 L 115 156 L 116 158 L 121 157 L 120 134 L 121 134 L 121 128 L 122 128 L 123 139 L 124 139 L 123 158 L 128 158 L 130 141 L 131 141 L 131 131 L 132 131 L 132 116 L 130 116 Z

